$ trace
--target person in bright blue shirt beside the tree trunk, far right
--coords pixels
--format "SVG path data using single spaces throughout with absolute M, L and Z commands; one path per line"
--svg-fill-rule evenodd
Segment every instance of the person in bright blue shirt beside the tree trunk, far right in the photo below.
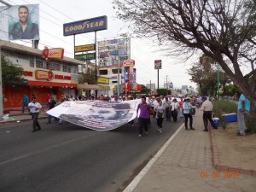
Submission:
M 238 136 L 245 136 L 246 125 L 244 124 L 244 118 L 246 114 L 250 113 L 251 102 L 246 96 L 241 94 L 237 107 L 237 120 L 238 120 Z

